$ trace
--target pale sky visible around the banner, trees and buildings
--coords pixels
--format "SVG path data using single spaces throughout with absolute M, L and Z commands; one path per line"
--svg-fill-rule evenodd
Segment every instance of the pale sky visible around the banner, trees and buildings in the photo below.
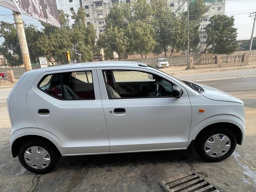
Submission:
M 58 0 L 57 0 L 58 7 Z M 253 10 L 254 9 L 254 10 Z M 249 39 L 252 34 L 253 19 L 249 17 L 250 13 L 256 11 L 256 0 L 226 0 L 225 14 L 228 16 L 234 15 L 235 27 L 237 28 L 237 39 Z M 41 25 L 38 20 L 35 20 L 26 15 L 22 15 L 22 19 L 25 24 L 32 24 L 40 29 Z M 12 11 L 10 9 L 0 6 L 0 21 L 13 23 Z M 256 29 L 254 31 L 256 36 Z M 4 41 L 3 37 L 0 37 L 0 44 Z

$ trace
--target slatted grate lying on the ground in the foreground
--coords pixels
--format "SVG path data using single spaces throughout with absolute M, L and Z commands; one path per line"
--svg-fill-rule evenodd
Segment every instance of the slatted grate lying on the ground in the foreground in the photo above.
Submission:
M 194 171 L 163 180 L 159 184 L 166 192 L 225 192 Z

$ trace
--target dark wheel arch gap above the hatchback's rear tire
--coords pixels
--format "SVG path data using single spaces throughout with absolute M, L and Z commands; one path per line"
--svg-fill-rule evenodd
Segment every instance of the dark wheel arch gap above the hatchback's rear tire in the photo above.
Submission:
M 52 147 L 55 148 L 55 150 L 59 152 L 59 156 L 61 156 L 60 150 L 56 147 L 56 145 L 51 140 L 49 140 L 45 137 L 39 136 L 39 135 L 24 135 L 24 136 L 18 137 L 16 140 L 14 140 L 12 143 L 12 148 L 11 148 L 12 156 L 13 157 L 18 156 L 18 151 L 19 151 L 19 148 L 22 145 L 22 143 L 29 141 L 29 140 L 40 140 L 40 141 L 50 143 L 52 145 Z

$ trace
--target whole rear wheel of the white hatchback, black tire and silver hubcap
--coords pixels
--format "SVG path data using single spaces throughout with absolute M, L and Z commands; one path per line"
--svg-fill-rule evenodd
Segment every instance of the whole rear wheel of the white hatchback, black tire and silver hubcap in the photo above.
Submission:
M 31 140 L 20 146 L 18 157 L 22 166 L 28 171 L 44 174 L 56 167 L 60 160 L 60 153 L 52 144 Z

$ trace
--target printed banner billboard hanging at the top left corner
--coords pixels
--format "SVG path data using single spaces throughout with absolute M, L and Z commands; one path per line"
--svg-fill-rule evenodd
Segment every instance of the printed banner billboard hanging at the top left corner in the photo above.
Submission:
M 56 0 L 0 0 L 0 5 L 60 27 Z

